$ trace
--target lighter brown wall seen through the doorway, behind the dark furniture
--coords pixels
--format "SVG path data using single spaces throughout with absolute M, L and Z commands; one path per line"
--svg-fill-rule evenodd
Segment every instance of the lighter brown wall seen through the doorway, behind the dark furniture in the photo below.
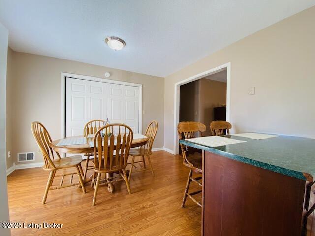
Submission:
M 200 104 L 199 104 L 199 122 L 207 127 L 204 135 L 211 135 L 209 125 L 214 118 L 214 107 L 221 107 L 226 104 L 226 83 L 211 80 L 200 79 Z

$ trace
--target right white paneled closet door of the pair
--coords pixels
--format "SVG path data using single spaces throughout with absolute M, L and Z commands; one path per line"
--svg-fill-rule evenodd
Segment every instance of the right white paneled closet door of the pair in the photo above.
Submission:
M 111 123 L 124 123 L 139 133 L 139 87 L 107 84 L 107 115 Z

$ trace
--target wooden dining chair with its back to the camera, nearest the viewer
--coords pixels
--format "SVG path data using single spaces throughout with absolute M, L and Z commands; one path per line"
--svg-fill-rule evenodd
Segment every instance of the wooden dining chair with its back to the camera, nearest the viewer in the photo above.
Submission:
M 102 138 L 104 133 L 104 138 Z M 129 156 L 131 143 L 133 140 L 133 132 L 131 128 L 125 124 L 108 124 L 100 128 L 94 139 L 94 164 L 92 182 L 95 188 L 92 206 L 95 205 L 98 187 L 100 184 L 101 174 L 105 174 L 102 182 L 105 184 L 114 183 L 117 178 L 122 177 L 126 182 L 129 194 L 131 189 L 126 175 L 126 166 Z M 107 177 L 107 173 L 118 173 L 118 177 Z M 97 180 L 95 182 L 95 175 Z

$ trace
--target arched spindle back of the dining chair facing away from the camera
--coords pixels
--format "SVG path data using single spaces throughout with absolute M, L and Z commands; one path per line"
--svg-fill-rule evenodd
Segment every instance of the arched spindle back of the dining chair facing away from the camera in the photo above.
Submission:
M 99 167 L 103 164 L 108 171 L 125 168 L 132 140 L 133 132 L 125 124 L 103 126 L 96 132 L 94 138 L 95 164 L 97 163 Z

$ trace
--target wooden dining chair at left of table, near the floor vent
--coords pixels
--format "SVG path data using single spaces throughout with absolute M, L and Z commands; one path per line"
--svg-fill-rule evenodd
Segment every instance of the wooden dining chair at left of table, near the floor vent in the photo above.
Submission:
M 52 142 L 52 139 L 47 129 L 40 122 L 37 122 L 37 121 L 32 122 L 32 133 L 44 157 L 45 164 L 43 166 L 43 169 L 45 171 L 49 171 L 49 177 L 48 177 L 42 203 L 43 204 L 46 203 L 49 190 L 66 188 L 66 187 L 71 187 L 71 186 L 80 184 L 83 193 L 86 193 L 85 186 L 82 180 L 82 173 L 83 173 L 82 167 L 81 167 L 82 156 L 75 155 L 75 156 L 60 158 L 60 155 L 58 152 L 55 152 L 56 153 L 56 156 L 55 156 L 53 149 L 49 146 L 49 143 Z M 69 169 L 69 168 L 75 168 L 76 172 L 56 175 L 56 172 L 58 170 Z M 72 183 L 73 174 L 78 175 L 79 183 Z M 68 175 L 71 175 L 70 183 L 67 185 L 63 185 L 64 176 L 68 176 Z M 59 186 L 52 186 L 54 177 L 56 176 L 62 177 L 61 182 Z

